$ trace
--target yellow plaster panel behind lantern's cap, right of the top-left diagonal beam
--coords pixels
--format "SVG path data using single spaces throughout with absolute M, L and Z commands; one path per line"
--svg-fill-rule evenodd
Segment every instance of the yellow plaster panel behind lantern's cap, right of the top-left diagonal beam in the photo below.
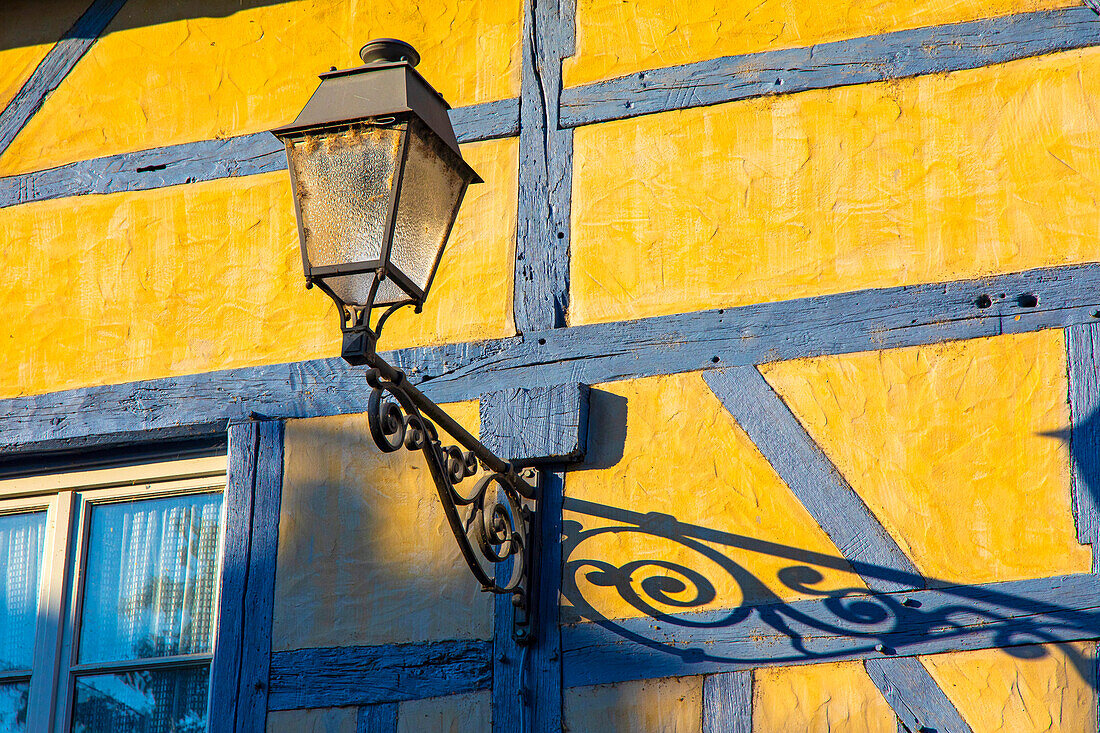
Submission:
M 0 175 L 293 120 L 374 37 L 420 52 L 458 107 L 519 94 L 520 0 L 128 2 L 0 155 Z

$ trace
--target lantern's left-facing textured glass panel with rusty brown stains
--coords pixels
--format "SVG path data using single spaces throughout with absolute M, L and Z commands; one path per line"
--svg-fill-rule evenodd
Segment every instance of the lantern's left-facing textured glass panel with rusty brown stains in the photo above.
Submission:
M 355 127 L 287 141 L 310 267 L 382 259 L 405 129 L 404 123 Z M 362 303 L 355 295 L 364 288 L 355 283 L 370 280 L 359 275 L 327 283 L 344 303 Z

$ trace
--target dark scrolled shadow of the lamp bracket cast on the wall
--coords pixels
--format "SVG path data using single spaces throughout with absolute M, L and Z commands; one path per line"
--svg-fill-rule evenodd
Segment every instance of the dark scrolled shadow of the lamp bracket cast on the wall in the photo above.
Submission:
M 565 497 L 564 508 L 600 524 L 585 528 L 578 521 L 563 523 L 561 592 L 569 604 L 562 609 L 565 625 L 592 622 L 624 639 L 685 661 L 738 666 L 982 648 L 1035 659 L 1049 654 L 1041 645 L 1054 644 L 1063 649 L 1081 679 L 1097 687 L 1096 658 L 1065 643 L 1067 638 L 1097 636 L 1100 613 L 1094 610 L 1060 605 L 1049 597 L 1016 595 L 996 584 L 959 586 L 849 562 L 838 556 L 683 523 L 668 514 L 639 513 L 570 497 Z M 673 543 L 725 577 L 661 557 L 610 561 L 585 551 L 587 543 L 606 540 L 608 536 L 640 536 L 650 547 L 654 543 Z M 763 578 L 733 559 L 730 550 L 780 558 L 791 565 L 780 568 L 774 579 Z M 899 587 L 935 590 L 878 593 L 859 586 L 826 589 L 823 581 L 829 571 L 835 571 L 831 579 L 836 572 L 858 573 Z M 743 602 L 736 608 L 714 610 L 718 588 L 728 588 L 730 581 L 739 589 Z M 777 581 L 806 600 L 784 601 L 771 590 Z M 586 594 L 584 587 L 594 590 Z M 596 608 L 601 600 L 595 597 L 606 601 L 608 597 L 602 595 L 606 592 L 644 617 L 612 619 L 602 613 Z M 716 638 L 736 638 L 738 643 L 714 644 Z M 750 643 L 752 639 L 759 643 Z

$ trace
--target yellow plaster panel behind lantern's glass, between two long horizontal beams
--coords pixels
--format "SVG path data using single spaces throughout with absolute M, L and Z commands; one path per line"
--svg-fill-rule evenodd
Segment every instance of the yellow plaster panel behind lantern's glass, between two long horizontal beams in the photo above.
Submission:
M 514 332 L 516 151 L 465 146 L 486 183 L 424 313 L 396 313 L 381 348 Z M 18 284 L 0 292 L 0 395 L 337 353 L 336 308 L 304 286 L 289 188 L 280 172 L 0 210 L 0 267 Z

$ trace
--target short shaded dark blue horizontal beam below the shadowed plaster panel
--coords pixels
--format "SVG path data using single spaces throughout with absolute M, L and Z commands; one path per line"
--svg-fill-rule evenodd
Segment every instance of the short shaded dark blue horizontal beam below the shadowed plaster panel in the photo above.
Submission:
M 270 710 L 339 708 L 487 690 L 492 642 L 338 646 L 272 654 Z

